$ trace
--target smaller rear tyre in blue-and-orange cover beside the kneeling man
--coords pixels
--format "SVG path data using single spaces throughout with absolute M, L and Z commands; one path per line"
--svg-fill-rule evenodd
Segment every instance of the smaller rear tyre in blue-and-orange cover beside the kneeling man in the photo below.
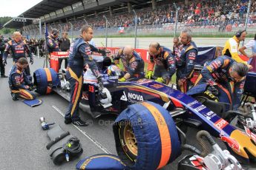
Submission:
M 40 95 L 50 94 L 54 87 L 60 85 L 59 75 L 51 68 L 36 69 L 33 72 L 33 78 L 36 92 Z

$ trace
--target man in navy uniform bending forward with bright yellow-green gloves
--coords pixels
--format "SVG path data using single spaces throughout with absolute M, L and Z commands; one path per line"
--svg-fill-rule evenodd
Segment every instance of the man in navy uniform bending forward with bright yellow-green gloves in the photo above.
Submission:
M 148 48 L 149 61 L 148 72 L 145 78 L 157 78 L 155 81 L 168 84 L 172 75 L 176 72 L 175 59 L 171 50 L 160 46 L 158 42 L 152 42 Z

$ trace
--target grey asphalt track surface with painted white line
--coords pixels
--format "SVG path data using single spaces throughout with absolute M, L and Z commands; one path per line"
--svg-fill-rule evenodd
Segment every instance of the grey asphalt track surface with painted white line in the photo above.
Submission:
M 44 58 L 35 58 L 35 63 L 30 66 L 31 72 L 42 68 Z M 6 73 L 11 67 L 11 59 L 7 60 Z M 63 62 L 64 63 L 64 62 Z M 116 116 L 105 115 L 93 119 L 90 115 L 80 111 L 83 120 L 91 123 L 87 127 L 76 127 L 72 124 L 65 125 L 65 115 L 68 101 L 59 95 L 39 96 L 43 103 L 41 106 L 31 108 L 21 100 L 13 101 L 7 85 L 8 78 L 0 78 L 0 169 L 75 169 L 73 160 L 62 166 L 55 166 L 50 160 L 46 145 L 49 142 L 47 132 L 41 129 L 40 117 L 45 117 L 48 123 L 56 121 L 62 129 L 69 131 L 71 135 L 79 138 L 84 152 L 81 159 L 93 154 L 111 153 L 116 154 L 114 134 L 111 123 Z M 188 129 L 188 143 L 195 144 L 195 131 Z M 222 144 L 222 147 L 225 146 Z M 187 154 L 186 152 L 185 154 Z M 185 154 L 180 156 L 174 163 L 163 169 L 177 169 L 177 162 Z

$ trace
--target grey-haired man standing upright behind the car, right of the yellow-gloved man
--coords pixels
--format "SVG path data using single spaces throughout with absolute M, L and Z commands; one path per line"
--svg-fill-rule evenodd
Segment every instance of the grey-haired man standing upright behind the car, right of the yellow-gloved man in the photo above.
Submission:
M 197 57 L 197 46 L 191 40 L 191 30 L 182 30 L 180 33 L 180 49 L 177 53 L 177 89 L 187 92 L 191 85 L 191 77 L 194 72 L 194 60 Z

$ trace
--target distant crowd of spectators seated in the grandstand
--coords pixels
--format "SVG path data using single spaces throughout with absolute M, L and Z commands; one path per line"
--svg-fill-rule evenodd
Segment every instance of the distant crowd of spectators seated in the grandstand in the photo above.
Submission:
M 248 3 L 248 0 L 179 2 L 177 4 L 177 7 L 180 7 L 178 21 L 182 27 L 213 26 L 218 27 L 219 30 L 227 30 L 229 26 L 243 27 L 246 21 Z M 136 11 L 138 16 L 137 24 L 142 29 L 152 26 L 163 27 L 164 24 L 173 25 L 176 20 L 176 10 L 173 4 L 159 4 L 154 10 L 150 7 Z M 62 29 L 59 27 L 59 24 L 56 24 L 54 27 L 62 31 L 70 31 L 72 30 L 70 23 L 72 23 L 73 30 L 79 31 L 83 24 L 90 24 L 94 29 L 102 30 L 105 28 L 105 18 L 103 18 L 103 15 L 108 18 L 108 27 L 131 27 L 135 24 L 134 13 L 132 12 L 114 13 L 113 15 L 100 13 L 97 15 L 97 17 L 92 15 L 76 19 L 76 21 L 60 23 Z M 256 1 L 252 1 L 248 24 L 256 24 Z

